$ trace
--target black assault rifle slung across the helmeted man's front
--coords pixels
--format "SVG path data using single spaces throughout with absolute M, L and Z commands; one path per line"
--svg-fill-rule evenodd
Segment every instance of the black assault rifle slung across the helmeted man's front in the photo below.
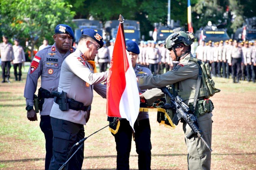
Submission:
M 175 125 L 178 125 L 181 118 L 189 125 L 192 131 L 187 135 L 189 139 L 193 135 L 197 135 L 200 139 L 202 139 L 203 143 L 207 146 L 207 148 L 212 152 L 211 147 L 205 142 L 203 139 L 202 130 L 198 126 L 197 118 L 190 111 L 189 107 L 183 103 L 183 100 L 180 96 L 173 97 L 167 87 L 159 88 L 165 94 L 167 94 L 171 98 L 171 104 L 165 104 L 164 107 L 166 109 L 175 107 L 176 113 L 174 114 L 172 122 Z

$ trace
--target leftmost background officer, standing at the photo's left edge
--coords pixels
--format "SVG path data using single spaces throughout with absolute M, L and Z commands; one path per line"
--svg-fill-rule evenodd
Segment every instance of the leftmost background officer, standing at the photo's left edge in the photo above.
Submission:
M 3 42 L 0 43 L 0 55 L 1 55 L 1 67 L 2 67 L 2 83 L 6 81 L 10 83 L 10 68 L 11 68 L 11 61 L 14 60 L 14 53 L 12 44 L 8 43 L 8 37 L 3 36 Z M 5 73 L 6 68 L 6 73 Z

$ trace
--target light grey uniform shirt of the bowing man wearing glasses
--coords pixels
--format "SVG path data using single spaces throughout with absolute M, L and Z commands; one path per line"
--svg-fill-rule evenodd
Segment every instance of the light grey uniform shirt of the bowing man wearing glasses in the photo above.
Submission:
M 93 90 L 103 98 L 106 98 L 106 86 L 101 82 L 106 81 L 108 71 L 94 73 L 92 65 L 85 60 L 82 52 L 76 49 L 62 63 L 58 92 L 66 92 L 68 98 L 82 102 L 84 106 L 90 106 L 93 102 Z M 73 123 L 86 124 L 86 111 L 73 110 L 62 111 L 54 102 L 50 116 Z

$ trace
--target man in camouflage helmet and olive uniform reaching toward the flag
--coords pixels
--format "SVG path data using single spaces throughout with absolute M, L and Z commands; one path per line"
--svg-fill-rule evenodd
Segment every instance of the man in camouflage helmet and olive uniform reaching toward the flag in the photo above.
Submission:
M 169 54 L 172 60 L 180 60 L 180 63 L 169 72 L 166 72 L 162 75 L 150 75 L 139 77 L 139 87 L 141 89 L 150 89 L 150 88 L 160 88 L 165 87 L 170 84 L 173 84 L 172 91 L 174 96 L 177 93 L 187 93 L 191 94 L 191 90 L 196 89 L 199 66 L 196 62 L 190 61 L 189 59 L 193 58 L 191 54 L 191 44 L 195 40 L 193 33 L 173 30 L 174 33 L 168 36 L 165 41 L 165 48 L 169 49 Z M 202 87 L 202 84 L 200 84 Z M 156 91 L 156 89 L 152 89 Z M 158 89 L 158 91 L 160 91 Z M 156 93 L 156 97 L 160 98 L 161 95 L 159 92 Z M 154 95 L 152 95 L 151 90 L 146 91 L 142 94 L 141 98 L 145 97 L 147 103 L 150 101 L 155 101 Z M 153 98 L 153 99 L 152 99 Z M 190 105 L 194 101 L 194 96 L 183 98 L 184 103 Z M 204 101 L 203 96 L 199 96 L 197 103 Z M 200 107 L 203 107 L 202 104 Z M 197 109 L 197 108 L 196 108 Z M 196 113 L 196 112 L 195 112 Z M 211 138 L 212 138 L 212 113 L 211 112 L 201 112 L 197 114 L 198 125 L 202 129 L 202 135 L 205 141 L 211 147 Z M 210 169 L 211 168 L 211 152 L 207 146 L 196 136 L 192 136 L 187 139 L 186 136 L 191 132 L 191 128 L 186 123 L 183 123 L 183 130 L 185 133 L 185 141 L 188 150 L 188 169 L 198 170 L 198 169 Z

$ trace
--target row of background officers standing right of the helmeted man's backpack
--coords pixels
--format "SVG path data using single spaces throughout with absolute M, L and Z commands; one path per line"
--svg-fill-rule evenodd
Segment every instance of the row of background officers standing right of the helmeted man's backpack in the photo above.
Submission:
M 229 78 L 232 74 L 234 83 L 245 79 L 255 82 L 256 41 L 202 41 L 197 47 L 196 57 L 210 63 L 213 76 Z

